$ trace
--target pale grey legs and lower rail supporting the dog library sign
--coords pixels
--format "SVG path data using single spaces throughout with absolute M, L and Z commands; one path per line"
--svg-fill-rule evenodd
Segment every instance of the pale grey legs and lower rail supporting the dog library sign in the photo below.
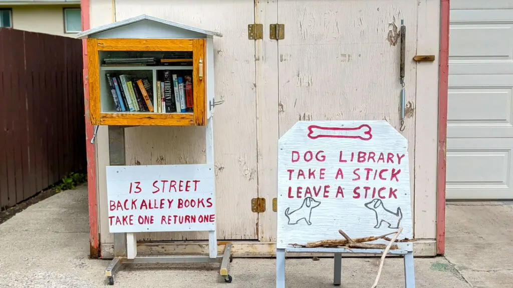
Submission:
M 285 252 L 333 253 L 333 285 L 342 282 L 342 253 L 383 253 L 377 249 L 354 249 L 353 252 L 342 248 L 287 248 L 276 250 L 276 288 L 285 288 Z M 415 288 L 415 270 L 413 252 L 404 250 L 389 251 L 389 254 L 402 255 L 404 258 L 404 282 L 406 288 Z

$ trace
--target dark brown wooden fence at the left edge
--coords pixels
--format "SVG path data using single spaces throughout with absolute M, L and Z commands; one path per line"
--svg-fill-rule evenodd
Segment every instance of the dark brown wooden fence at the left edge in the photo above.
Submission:
M 0 210 L 86 166 L 82 41 L 0 28 Z

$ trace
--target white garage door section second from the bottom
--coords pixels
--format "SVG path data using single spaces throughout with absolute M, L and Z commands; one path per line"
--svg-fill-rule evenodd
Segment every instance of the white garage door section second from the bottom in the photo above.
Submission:
M 452 75 L 449 83 L 448 137 L 513 137 L 513 75 Z

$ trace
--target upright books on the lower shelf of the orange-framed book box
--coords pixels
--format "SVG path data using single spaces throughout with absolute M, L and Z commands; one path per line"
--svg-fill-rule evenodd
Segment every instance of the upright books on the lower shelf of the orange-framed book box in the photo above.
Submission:
M 106 73 L 116 111 L 185 113 L 193 112 L 192 77 L 158 71 L 156 102 L 148 77 Z

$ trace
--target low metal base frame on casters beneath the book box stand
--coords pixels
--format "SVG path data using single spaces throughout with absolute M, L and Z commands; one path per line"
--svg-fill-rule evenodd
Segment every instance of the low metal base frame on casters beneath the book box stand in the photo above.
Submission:
M 231 255 L 231 243 L 225 245 L 223 255 L 215 258 L 209 256 L 137 256 L 134 259 L 126 257 L 114 257 L 107 268 L 105 276 L 110 285 L 114 285 L 114 275 L 121 268 L 122 264 L 139 264 L 139 263 L 214 263 L 221 262 L 219 274 L 224 277 L 226 283 L 231 283 L 232 277 L 228 273 L 228 266 L 233 260 Z

